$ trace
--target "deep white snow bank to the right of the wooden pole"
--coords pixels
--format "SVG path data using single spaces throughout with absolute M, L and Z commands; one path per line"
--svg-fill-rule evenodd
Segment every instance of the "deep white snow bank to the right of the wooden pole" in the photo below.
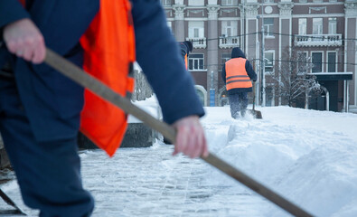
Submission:
M 206 109 L 211 153 L 316 216 L 357 216 L 357 115 L 275 107 L 233 120 L 229 107 Z M 209 182 L 234 184 L 211 170 Z M 287 215 L 272 203 L 257 209 Z

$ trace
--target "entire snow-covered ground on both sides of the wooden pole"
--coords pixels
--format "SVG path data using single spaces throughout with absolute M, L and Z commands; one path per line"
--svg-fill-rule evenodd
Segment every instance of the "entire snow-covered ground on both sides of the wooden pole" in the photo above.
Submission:
M 272 107 L 257 108 L 263 119 L 234 120 L 229 107 L 205 109 L 211 153 L 315 216 L 357 216 L 357 115 Z M 113 158 L 82 152 L 93 216 L 290 216 L 202 160 L 172 151 L 158 141 Z M 37 213 L 23 206 L 14 182 L 2 189 Z

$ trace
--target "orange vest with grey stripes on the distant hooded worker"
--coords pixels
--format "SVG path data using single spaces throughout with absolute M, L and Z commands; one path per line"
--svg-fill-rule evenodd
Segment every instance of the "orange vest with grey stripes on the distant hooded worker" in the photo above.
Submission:
M 251 80 L 246 71 L 247 59 L 233 58 L 226 61 L 226 89 L 251 88 Z

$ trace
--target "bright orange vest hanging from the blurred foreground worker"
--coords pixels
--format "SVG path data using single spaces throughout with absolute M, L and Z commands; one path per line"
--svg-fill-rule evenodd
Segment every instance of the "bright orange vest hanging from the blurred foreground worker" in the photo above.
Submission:
M 75 22 L 75 21 L 74 21 Z M 80 38 L 84 71 L 121 96 L 134 90 L 135 35 L 128 0 L 100 0 L 99 13 Z M 85 90 L 80 131 L 109 156 L 120 146 L 127 130 L 127 114 Z

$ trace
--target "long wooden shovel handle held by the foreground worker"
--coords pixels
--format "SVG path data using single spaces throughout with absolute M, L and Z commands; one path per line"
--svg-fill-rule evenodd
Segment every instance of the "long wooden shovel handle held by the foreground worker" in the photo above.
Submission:
M 120 109 L 123 109 L 127 114 L 131 114 L 136 118 L 143 121 L 148 127 L 155 129 L 156 131 L 163 134 L 164 137 L 174 142 L 176 140 L 176 131 L 174 127 L 167 125 L 166 123 L 153 118 L 151 115 L 147 114 L 144 110 L 137 108 L 130 100 L 121 97 L 119 94 L 109 89 L 108 86 L 90 76 L 88 73 L 80 69 L 80 67 L 74 65 L 70 61 L 65 60 L 60 55 L 47 49 L 45 62 L 52 66 L 57 71 L 60 71 L 65 76 L 69 77 L 71 80 L 78 82 L 81 86 L 87 88 L 88 90 L 94 92 L 102 99 L 106 99 L 112 104 L 116 105 Z M 257 181 L 250 178 L 248 175 L 240 172 L 237 168 L 227 164 L 222 161 L 219 157 L 212 155 L 211 153 L 207 157 L 201 157 L 202 160 L 208 164 L 221 170 L 221 172 L 230 177 L 236 179 L 241 184 L 246 185 L 251 190 L 259 193 L 263 197 L 267 198 L 272 203 L 276 203 L 277 206 L 286 210 L 287 212 L 296 216 L 313 216 L 303 209 L 296 206 L 294 203 L 287 201 L 279 194 L 271 191 L 268 187 L 263 184 L 259 184 Z

